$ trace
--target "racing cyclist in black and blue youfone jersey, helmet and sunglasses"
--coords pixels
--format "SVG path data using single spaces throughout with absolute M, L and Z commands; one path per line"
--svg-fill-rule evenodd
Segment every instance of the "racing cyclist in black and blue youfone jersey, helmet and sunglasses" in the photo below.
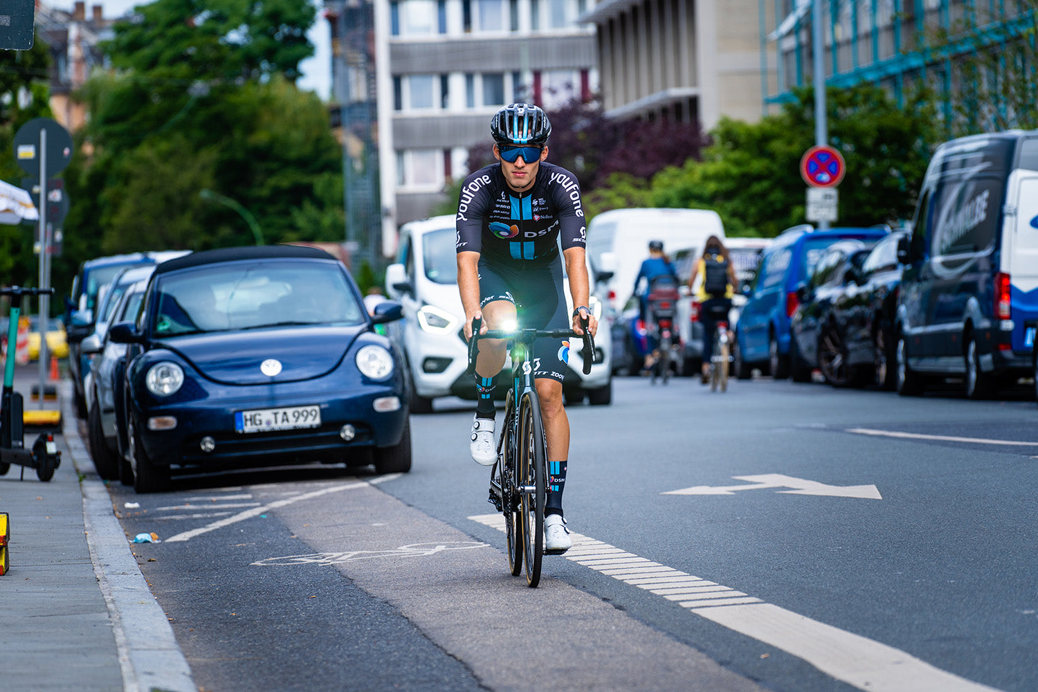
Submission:
M 582 334 L 580 317 L 585 317 L 594 336 L 598 321 L 588 309 L 586 227 L 580 186 L 573 173 L 545 161 L 551 134 L 548 116 L 538 106 L 512 104 L 491 119 L 490 134 L 498 163 L 466 177 L 458 201 L 458 288 L 465 309 L 465 338 L 472 338 L 473 317 L 483 320 L 481 332 L 514 329 L 517 306 L 524 328 L 572 327 Z M 576 306 L 572 314 L 567 314 L 563 293 L 559 241 Z M 563 518 L 570 446 L 563 373 L 569 342 L 538 339 L 536 352 L 534 384 L 548 446 L 546 548 L 561 552 L 572 546 Z M 501 339 L 480 342 L 469 451 L 484 466 L 491 466 L 496 459 L 494 386 L 506 355 Z

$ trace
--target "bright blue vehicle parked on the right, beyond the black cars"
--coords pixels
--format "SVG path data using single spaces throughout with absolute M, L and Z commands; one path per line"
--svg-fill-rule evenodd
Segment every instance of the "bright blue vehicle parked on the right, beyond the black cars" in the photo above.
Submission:
M 790 319 L 799 305 L 797 288 L 804 285 L 826 248 L 841 240 L 875 243 L 886 226 L 816 230 L 810 224 L 784 230 L 764 250 L 746 305 L 739 313 L 734 344 L 737 378 L 749 378 L 755 366 L 776 379 L 789 377 Z

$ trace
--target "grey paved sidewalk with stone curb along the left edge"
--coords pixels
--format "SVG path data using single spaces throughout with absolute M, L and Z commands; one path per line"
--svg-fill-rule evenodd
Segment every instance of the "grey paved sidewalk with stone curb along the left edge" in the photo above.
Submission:
M 25 410 L 35 365 L 16 369 Z M 53 383 L 51 383 L 53 384 Z M 0 476 L 10 524 L 9 569 L 0 577 L 0 675 L 5 692 L 194 692 L 197 687 L 162 608 L 141 576 L 57 383 L 61 466 L 49 482 L 32 468 Z M 36 433 L 27 433 L 31 445 Z M 24 480 L 19 478 L 23 475 Z

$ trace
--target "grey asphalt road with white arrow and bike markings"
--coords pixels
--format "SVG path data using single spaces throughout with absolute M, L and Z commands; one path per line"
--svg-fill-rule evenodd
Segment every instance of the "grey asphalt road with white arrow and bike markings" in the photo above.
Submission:
M 203 690 L 1038 689 L 1034 400 L 614 388 L 570 409 L 576 546 L 537 589 L 457 399 L 406 475 L 110 491 Z

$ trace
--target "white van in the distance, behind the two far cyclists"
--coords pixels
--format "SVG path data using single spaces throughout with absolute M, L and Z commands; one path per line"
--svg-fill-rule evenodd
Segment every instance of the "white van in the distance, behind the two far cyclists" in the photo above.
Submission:
M 612 272 L 611 278 L 600 283 L 604 283 L 603 293 L 610 299 L 607 313 L 612 317 L 612 357 L 618 371 L 640 369 L 645 357 L 638 345 L 645 330 L 637 325 L 637 305 L 628 303 L 634 295 L 634 277 L 641 261 L 649 257 L 649 241 L 662 241 L 667 256 L 673 257 L 678 250 L 698 256 L 711 236 L 723 239 L 725 225 L 720 216 L 710 210 L 621 209 L 603 212 L 588 224 L 588 255 L 596 276 Z M 691 298 L 685 297 L 682 302 L 688 304 L 683 309 L 687 317 Z M 691 325 L 690 335 L 680 327 L 683 340 L 678 363 L 685 373 L 691 373 L 689 368 L 698 369 L 702 358 L 702 326 Z

